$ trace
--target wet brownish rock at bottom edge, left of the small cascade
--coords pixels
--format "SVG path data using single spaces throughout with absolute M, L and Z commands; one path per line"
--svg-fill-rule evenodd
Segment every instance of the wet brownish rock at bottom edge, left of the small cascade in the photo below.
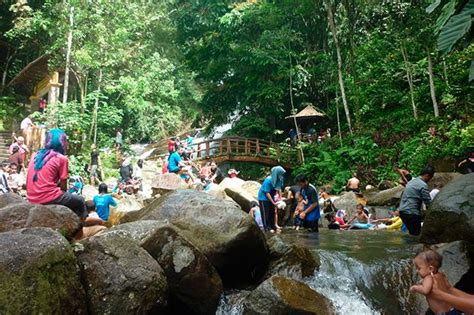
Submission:
M 331 303 L 302 282 L 273 276 L 246 298 L 244 315 L 335 314 Z

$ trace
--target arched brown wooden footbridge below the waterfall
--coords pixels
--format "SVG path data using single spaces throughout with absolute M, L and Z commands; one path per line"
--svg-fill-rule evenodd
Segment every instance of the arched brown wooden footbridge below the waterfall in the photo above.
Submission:
M 193 145 L 194 160 L 223 162 L 249 162 L 267 166 L 281 165 L 292 169 L 301 162 L 299 151 L 288 145 L 256 138 L 225 137 Z

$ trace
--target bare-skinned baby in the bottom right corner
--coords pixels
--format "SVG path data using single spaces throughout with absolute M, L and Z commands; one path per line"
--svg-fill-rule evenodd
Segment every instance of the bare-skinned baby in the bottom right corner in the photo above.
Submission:
M 431 311 L 435 314 L 461 314 L 445 301 L 435 299 L 432 296 L 434 279 L 439 284 L 438 286 L 441 291 L 448 292 L 451 287 L 445 274 L 439 271 L 443 263 L 443 256 L 434 250 L 425 250 L 416 255 L 414 263 L 416 271 L 422 280 L 420 284 L 413 285 L 410 288 L 410 292 L 423 294 Z

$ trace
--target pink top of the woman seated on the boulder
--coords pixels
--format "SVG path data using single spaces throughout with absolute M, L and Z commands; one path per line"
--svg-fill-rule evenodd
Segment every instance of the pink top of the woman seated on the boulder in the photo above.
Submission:
M 66 180 L 69 177 L 67 157 L 59 154 L 52 157 L 41 170 L 37 172 L 38 180 L 33 182 L 35 175 L 35 153 L 31 157 L 26 176 L 26 193 L 31 203 L 46 204 L 59 197 L 64 192 L 58 186 L 60 180 Z

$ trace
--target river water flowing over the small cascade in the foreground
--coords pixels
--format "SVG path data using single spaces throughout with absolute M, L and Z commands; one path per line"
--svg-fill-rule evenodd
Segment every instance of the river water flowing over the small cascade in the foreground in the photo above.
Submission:
M 284 230 L 283 239 L 309 248 L 321 268 L 305 282 L 329 298 L 337 314 L 423 314 L 426 304 L 408 289 L 417 281 L 409 235 L 389 231 Z M 241 314 L 248 292 L 226 292 L 217 314 Z

